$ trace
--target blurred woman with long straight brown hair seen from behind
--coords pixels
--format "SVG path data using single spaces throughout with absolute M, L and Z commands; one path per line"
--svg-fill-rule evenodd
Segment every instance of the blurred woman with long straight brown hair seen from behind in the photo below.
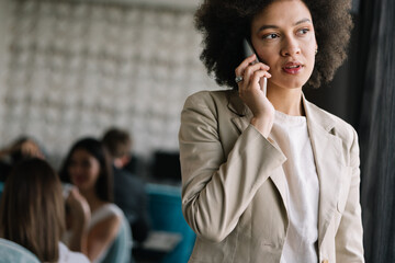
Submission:
M 42 262 L 89 262 L 60 242 L 65 202 L 58 175 L 44 160 L 27 159 L 16 164 L 1 199 L 1 238 L 21 244 Z

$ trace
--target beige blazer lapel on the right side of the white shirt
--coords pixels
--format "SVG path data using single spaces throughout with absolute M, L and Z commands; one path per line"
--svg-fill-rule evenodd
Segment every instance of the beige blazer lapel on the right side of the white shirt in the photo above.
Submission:
M 335 122 L 304 98 L 303 102 L 319 180 L 318 248 L 320 248 L 336 211 L 341 170 L 345 164 L 341 140 L 332 134 Z

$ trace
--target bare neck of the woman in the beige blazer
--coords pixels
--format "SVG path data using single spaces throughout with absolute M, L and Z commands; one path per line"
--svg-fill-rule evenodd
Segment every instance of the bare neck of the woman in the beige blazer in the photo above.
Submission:
M 268 89 L 268 99 L 275 111 L 293 116 L 304 116 L 302 89 Z

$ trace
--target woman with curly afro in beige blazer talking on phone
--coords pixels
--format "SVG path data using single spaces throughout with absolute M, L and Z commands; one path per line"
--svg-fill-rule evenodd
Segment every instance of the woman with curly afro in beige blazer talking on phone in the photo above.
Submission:
M 196 93 L 182 111 L 190 262 L 363 262 L 357 134 L 302 92 L 345 59 L 349 7 L 206 0 L 198 10 L 201 58 L 233 90 Z M 257 56 L 244 57 L 245 38 Z

